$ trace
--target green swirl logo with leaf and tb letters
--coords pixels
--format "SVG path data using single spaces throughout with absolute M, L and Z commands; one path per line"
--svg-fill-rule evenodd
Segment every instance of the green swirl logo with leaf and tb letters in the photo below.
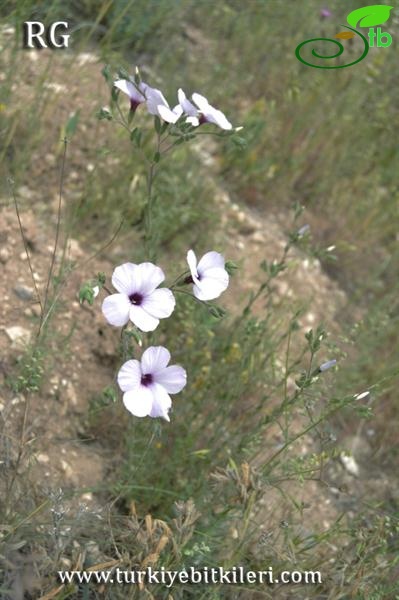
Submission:
M 392 10 L 392 8 L 392 6 L 386 6 L 382 4 L 375 4 L 373 6 L 365 6 L 363 8 L 358 8 L 348 15 L 347 21 L 349 23 L 349 26 L 342 25 L 342 27 L 345 27 L 349 31 L 342 31 L 341 33 L 338 33 L 335 36 L 335 38 L 338 39 L 319 37 L 312 38 L 311 40 L 305 40 L 304 42 L 299 44 L 299 46 L 296 47 L 295 56 L 301 63 L 308 67 L 313 67 L 314 69 L 345 69 L 346 67 L 353 67 L 353 65 L 356 65 L 364 58 L 366 58 L 370 47 L 374 47 L 375 40 L 377 40 L 377 47 L 380 48 L 385 48 L 392 43 L 392 37 L 389 33 L 382 32 L 380 27 L 377 28 L 377 31 L 375 31 L 374 29 L 374 26 L 381 25 L 389 19 L 390 11 Z M 369 39 L 367 39 L 367 37 L 363 35 L 358 29 L 355 29 L 356 27 L 368 27 Z M 339 40 L 349 40 L 351 38 L 355 38 L 356 36 L 361 38 L 364 45 L 364 49 L 359 58 L 357 58 L 356 60 L 352 60 L 347 64 L 314 64 L 313 62 L 310 62 L 310 60 L 307 60 L 303 57 L 303 49 L 306 46 L 309 47 L 310 44 L 312 45 L 311 54 L 316 59 L 331 60 L 334 58 L 339 58 L 345 52 L 345 48 L 342 42 Z M 318 42 L 328 42 L 329 44 L 334 44 L 336 52 L 334 52 L 333 54 L 320 53 L 320 51 L 318 51 L 315 47 L 315 44 L 317 44 Z

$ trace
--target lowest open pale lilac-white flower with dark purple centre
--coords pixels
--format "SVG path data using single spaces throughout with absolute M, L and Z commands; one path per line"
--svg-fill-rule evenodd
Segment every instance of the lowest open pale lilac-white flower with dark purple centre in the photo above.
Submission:
M 128 360 L 118 373 L 123 403 L 136 417 L 162 417 L 169 421 L 172 406 L 169 394 L 177 394 L 187 383 L 186 371 L 167 366 L 170 353 L 163 346 L 147 348 L 141 361 Z

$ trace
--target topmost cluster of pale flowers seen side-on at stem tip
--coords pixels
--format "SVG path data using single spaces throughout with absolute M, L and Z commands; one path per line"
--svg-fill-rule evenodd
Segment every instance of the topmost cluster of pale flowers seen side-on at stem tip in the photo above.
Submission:
M 178 103 L 170 108 L 163 93 L 143 81 L 135 81 L 134 78 L 118 79 L 115 87 L 129 96 L 130 109 L 134 112 L 140 104 L 145 104 L 151 115 L 157 116 L 166 123 L 177 123 L 179 119 L 185 119 L 193 127 L 204 123 L 212 123 L 221 129 L 231 130 L 232 124 L 222 113 L 212 106 L 205 96 L 194 93 L 189 100 L 182 89 L 177 92 Z

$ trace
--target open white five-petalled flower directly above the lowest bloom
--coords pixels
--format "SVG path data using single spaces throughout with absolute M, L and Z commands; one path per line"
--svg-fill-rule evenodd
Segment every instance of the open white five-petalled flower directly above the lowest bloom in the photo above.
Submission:
M 119 293 L 107 296 L 102 304 L 108 323 L 122 327 L 130 319 L 141 331 L 154 331 L 159 319 L 170 317 L 175 307 L 170 290 L 156 289 L 164 279 L 162 269 L 152 263 L 116 267 L 112 285 Z

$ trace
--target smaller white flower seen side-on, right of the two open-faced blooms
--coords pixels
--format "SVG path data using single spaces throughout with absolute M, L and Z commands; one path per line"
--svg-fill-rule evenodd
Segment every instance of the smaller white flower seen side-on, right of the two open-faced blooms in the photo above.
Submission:
M 194 296 L 199 300 L 218 298 L 229 285 L 229 274 L 224 268 L 224 258 L 218 252 L 207 252 L 197 265 L 193 250 L 187 253 Z

